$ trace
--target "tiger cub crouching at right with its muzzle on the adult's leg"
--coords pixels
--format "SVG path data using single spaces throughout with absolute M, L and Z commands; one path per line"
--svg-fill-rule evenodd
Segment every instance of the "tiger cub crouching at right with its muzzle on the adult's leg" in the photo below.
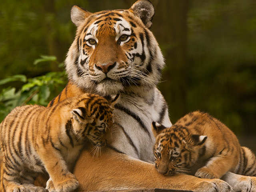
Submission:
M 241 147 L 235 134 L 207 113 L 191 112 L 170 128 L 153 122 L 152 131 L 155 166 L 161 174 L 190 172 L 212 179 L 230 171 L 256 176 L 252 151 Z

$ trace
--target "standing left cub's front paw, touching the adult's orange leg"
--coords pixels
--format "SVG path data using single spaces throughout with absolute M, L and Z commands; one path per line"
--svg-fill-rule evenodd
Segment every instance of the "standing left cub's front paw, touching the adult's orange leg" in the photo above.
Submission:
M 70 192 L 78 188 L 79 183 L 78 180 L 76 180 L 76 177 L 69 173 L 64 180 L 58 182 L 55 186 L 57 192 Z

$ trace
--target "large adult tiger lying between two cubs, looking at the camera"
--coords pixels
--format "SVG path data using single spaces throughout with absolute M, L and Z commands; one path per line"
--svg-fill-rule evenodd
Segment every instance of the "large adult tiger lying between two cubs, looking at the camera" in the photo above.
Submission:
M 49 105 L 83 92 L 106 97 L 121 94 L 114 110 L 116 136 L 112 146 L 100 158 L 93 158 L 90 151 L 84 150 L 74 174 L 82 190 L 230 191 L 229 184 L 222 180 L 188 175 L 165 177 L 155 170 L 154 164 L 145 162 L 153 160 L 151 122 L 172 125 L 167 104 L 156 88 L 164 59 L 149 30 L 153 16 L 154 7 L 148 0 L 138 0 L 128 10 L 96 13 L 73 6 L 71 19 L 78 28 L 66 58 L 69 83 Z M 232 178 L 228 181 L 237 184 L 238 190 L 252 181 L 236 177 L 227 178 Z

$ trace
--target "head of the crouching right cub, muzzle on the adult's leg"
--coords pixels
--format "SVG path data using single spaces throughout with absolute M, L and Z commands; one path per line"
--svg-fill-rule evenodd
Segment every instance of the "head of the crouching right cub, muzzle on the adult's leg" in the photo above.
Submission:
M 189 172 L 198 160 L 199 149 L 207 139 L 207 136 L 190 134 L 187 128 L 175 124 L 166 128 L 152 122 L 152 131 L 156 137 L 156 169 L 164 175 Z

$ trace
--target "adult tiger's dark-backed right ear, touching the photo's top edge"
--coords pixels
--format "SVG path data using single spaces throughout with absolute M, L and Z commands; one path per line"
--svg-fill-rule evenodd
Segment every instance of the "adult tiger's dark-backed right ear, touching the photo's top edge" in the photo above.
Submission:
M 149 0 L 138 0 L 136 1 L 130 10 L 138 16 L 147 28 L 152 25 L 152 19 L 155 14 L 153 4 Z

